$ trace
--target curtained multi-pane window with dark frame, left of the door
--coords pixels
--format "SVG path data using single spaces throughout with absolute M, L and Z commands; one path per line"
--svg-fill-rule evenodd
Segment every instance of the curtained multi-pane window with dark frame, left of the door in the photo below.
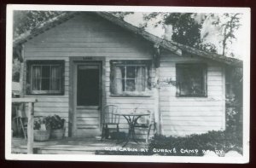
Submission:
M 64 61 L 27 61 L 28 94 L 63 94 Z

